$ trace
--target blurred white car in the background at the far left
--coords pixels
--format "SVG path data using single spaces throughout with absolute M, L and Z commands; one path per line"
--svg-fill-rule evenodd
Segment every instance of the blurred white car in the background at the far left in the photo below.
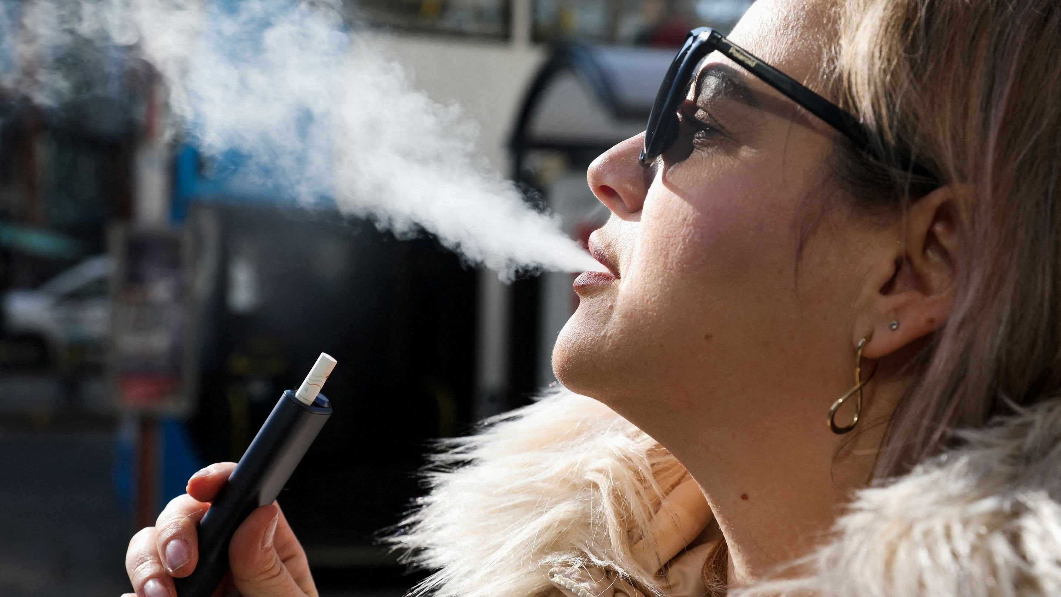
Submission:
M 101 357 L 110 332 L 110 258 L 97 256 L 38 288 L 3 296 L 3 328 L 12 337 L 40 341 L 53 361 L 70 346 Z

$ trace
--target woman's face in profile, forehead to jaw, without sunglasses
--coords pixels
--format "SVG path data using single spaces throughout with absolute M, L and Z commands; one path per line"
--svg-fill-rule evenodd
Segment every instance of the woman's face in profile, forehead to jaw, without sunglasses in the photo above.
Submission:
M 821 91 L 828 10 L 761 0 L 730 38 Z M 718 53 L 680 113 L 677 141 L 651 168 L 638 163 L 642 136 L 590 168 L 612 211 L 591 245 L 619 279 L 578 288 L 554 351 L 558 379 L 638 409 L 639 424 L 775 408 L 745 400 L 749 387 L 820 390 L 824 379 L 842 392 L 850 370 L 835 364 L 850 361 L 863 268 L 857 225 L 828 201 L 831 129 Z M 815 405 L 822 417 L 834 398 Z

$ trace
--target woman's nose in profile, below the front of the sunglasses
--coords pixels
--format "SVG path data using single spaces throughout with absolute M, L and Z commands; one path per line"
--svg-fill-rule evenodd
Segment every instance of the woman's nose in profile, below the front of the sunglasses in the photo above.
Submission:
M 597 156 L 586 175 L 590 190 L 612 213 L 637 218 L 645 204 L 653 169 L 638 161 L 645 134 L 630 137 Z

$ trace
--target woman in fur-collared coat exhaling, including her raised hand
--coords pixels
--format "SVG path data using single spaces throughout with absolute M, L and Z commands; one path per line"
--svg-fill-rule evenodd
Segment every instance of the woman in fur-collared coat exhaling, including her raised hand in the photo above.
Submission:
M 571 391 L 437 457 L 423 589 L 1061 594 L 1061 6 L 760 0 L 731 39 L 591 166 Z M 134 537 L 138 595 L 230 470 Z M 315 594 L 275 505 L 230 561 Z

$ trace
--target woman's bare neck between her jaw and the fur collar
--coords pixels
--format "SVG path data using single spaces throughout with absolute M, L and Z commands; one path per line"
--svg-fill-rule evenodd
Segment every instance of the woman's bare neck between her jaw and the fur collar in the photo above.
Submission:
M 814 408 L 782 405 L 778 410 L 783 411 L 770 417 L 743 410 L 732 419 L 714 408 L 707 418 L 685 414 L 671 419 L 686 425 L 645 429 L 703 491 L 727 542 L 731 587 L 769 576 L 810 552 L 828 538 L 852 491 L 870 479 L 894 404 L 888 394 L 895 392 L 883 385 L 872 392 L 867 388 L 858 425 L 843 436 L 829 429 L 830 402 L 815 393 L 817 400 L 787 392 L 784 401 L 775 400 Z M 839 420 L 849 421 L 852 411 Z

